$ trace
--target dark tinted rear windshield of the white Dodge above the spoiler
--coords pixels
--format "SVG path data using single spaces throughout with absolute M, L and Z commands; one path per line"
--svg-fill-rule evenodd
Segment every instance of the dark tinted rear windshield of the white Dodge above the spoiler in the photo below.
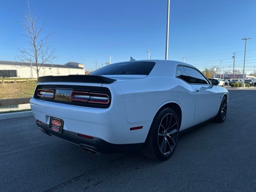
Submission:
M 110 64 L 90 73 L 90 75 L 148 75 L 155 64 L 155 62 L 149 61 Z

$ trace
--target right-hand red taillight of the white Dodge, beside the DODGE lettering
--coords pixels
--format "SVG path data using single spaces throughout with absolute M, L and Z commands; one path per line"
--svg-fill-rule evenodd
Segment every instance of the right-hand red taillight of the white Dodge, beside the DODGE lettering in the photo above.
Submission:
M 71 100 L 88 103 L 108 104 L 109 96 L 108 94 L 104 93 L 72 91 Z

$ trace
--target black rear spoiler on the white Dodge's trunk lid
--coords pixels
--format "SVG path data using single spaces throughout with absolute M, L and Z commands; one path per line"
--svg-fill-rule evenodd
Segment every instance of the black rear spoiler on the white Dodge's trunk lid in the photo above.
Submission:
M 83 83 L 112 83 L 116 79 L 100 75 L 67 75 L 67 76 L 42 76 L 38 82 L 83 82 Z

